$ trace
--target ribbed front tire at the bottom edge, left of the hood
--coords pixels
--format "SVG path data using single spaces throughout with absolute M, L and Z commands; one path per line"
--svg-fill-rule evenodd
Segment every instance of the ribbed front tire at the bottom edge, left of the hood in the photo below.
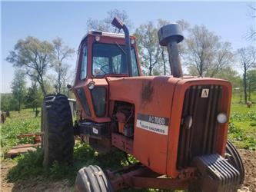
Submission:
M 101 167 L 90 165 L 78 171 L 75 192 L 112 192 L 111 184 Z

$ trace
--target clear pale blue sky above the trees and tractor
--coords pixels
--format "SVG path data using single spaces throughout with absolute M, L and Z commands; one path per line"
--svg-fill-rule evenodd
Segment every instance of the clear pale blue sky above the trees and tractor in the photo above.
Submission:
M 250 2 L 1 2 L 1 90 L 11 92 L 15 68 L 5 61 L 19 39 L 34 36 L 40 40 L 63 39 L 78 49 L 86 34 L 88 18 L 103 19 L 107 12 L 125 10 L 134 29 L 158 18 L 171 22 L 184 19 L 191 25 L 205 25 L 231 42 L 234 50 L 251 45 L 244 38 L 255 21 L 249 16 Z M 255 5 L 255 2 L 254 2 Z M 131 31 L 132 32 L 132 31 Z M 69 65 L 75 68 L 75 59 Z

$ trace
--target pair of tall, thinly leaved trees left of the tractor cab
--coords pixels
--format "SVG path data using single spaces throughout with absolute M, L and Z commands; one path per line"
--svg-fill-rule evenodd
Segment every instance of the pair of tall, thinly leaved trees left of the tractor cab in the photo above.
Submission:
M 45 96 L 49 92 L 47 87 L 50 68 L 55 72 L 52 87 L 57 93 L 65 93 L 69 68 L 66 61 L 74 53 L 75 49 L 65 45 L 61 38 L 49 42 L 28 36 L 16 43 L 6 60 L 15 68 L 24 70 L 32 82 L 36 81 Z

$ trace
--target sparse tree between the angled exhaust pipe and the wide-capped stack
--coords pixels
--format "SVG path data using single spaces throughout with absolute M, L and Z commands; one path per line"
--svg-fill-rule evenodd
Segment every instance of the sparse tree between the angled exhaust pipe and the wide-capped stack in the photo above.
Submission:
M 149 75 L 152 75 L 155 65 L 158 64 L 160 56 L 160 45 L 158 43 L 158 29 L 153 22 L 140 25 L 135 30 L 141 65 Z

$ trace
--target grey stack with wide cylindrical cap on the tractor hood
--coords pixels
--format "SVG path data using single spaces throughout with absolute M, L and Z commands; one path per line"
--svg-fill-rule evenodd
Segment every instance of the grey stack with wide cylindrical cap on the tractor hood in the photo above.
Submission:
M 178 53 L 178 43 L 184 39 L 181 26 L 178 24 L 169 24 L 161 27 L 158 31 L 158 39 L 161 46 L 167 46 L 171 74 L 174 78 L 181 78 L 183 73 L 181 58 Z

